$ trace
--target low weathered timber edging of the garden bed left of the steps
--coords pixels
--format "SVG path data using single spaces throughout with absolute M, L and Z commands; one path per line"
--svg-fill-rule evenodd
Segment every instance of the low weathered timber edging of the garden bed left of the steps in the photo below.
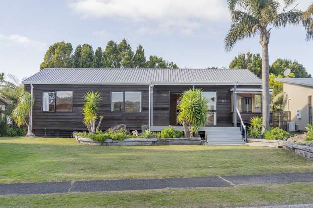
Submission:
M 107 139 L 104 142 L 96 142 L 92 139 L 76 136 L 76 141 L 84 145 L 102 146 L 143 146 L 143 145 L 201 145 L 201 138 L 129 138 L 124 140 Z

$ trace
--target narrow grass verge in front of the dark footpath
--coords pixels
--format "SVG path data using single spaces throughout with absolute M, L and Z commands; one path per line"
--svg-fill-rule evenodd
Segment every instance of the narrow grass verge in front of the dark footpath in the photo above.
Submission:
M 0 196 L 0 207 L 233 207 L 313 202 L 313 183 Z

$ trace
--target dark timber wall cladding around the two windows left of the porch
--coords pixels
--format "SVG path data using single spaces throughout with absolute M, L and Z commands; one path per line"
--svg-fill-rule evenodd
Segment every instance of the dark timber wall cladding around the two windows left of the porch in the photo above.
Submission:
M 47 136 L 71 136 L 73 131 L 87 131 L 83 124 L 82 102 L 87 91 L 97 90 L 101 93 L 102 101 L 98 115 L 104 118 L 100 129 L 105 130 L 113 125 L 125 124 L 129 130 L 141 129 L 148 125 L 149 118 L 149 86 L 148 85 L 39 85 L 33 84 L 35 104 L 33 107 L 33 132 Z M 30 92 L 30 85 L 25 89 Z M 72 112 L 42 112 L 43 91 L 72 91 Z M 141 91 L 142 112 L 111 112 L 111 91 Z

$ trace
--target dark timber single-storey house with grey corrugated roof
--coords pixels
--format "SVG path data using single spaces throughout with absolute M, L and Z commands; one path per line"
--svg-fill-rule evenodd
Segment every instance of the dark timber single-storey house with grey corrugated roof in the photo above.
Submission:
M 152 131 L 169 125 L 182 129 L 177 105 L 190 88 L 201 88 L 209 101 L 207 125 L 200 131 L 230 130 L 241 136 L 235 126 L 262 114 L 261 80 L 247 69 L 46 68 L 23 83 L 29 92 L 33 87 L 32 123 L 38 136 L 86 131 L 81 108 L 83 95 L 91 90 L 102 96 L 102 130 L 121 123 L 129 130 L 142 125 Z

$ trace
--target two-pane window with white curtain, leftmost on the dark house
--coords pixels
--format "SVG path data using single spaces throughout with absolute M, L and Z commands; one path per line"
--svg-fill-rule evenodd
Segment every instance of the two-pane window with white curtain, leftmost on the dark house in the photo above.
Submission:
M 43 92 L 43 112 L 69 112 L 72 111 L 73 92 L 50 91 Z

